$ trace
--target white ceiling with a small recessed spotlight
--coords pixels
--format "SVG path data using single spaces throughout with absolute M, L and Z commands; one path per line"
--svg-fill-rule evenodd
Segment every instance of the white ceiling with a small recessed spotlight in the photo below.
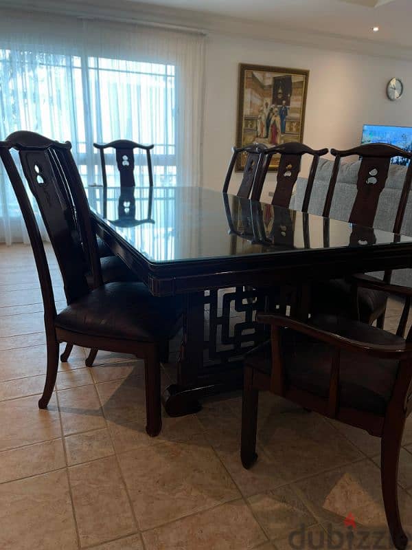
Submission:
M 129 0 L 133 3 L 137 0 Z M 412 47 L 412 0 L 145 0 L 178 8 L 302 30 Z M 379 32 L 371 28 L 378 26 Z

